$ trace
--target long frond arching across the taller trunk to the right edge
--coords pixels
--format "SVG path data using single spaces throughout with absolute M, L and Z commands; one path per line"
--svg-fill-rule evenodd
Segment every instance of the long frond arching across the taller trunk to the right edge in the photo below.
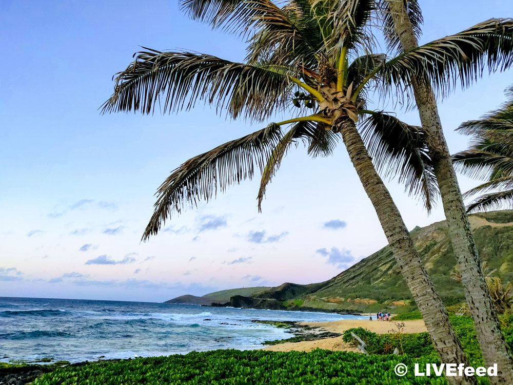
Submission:
M 432 41 L 394 57 L 383 65 L 388 86 L 408 86 L 426 79 L 442 97 L 476 81 L 484 69 L 505 70 L 513 65 L 513 19 L 490 19 L 455 35 Z

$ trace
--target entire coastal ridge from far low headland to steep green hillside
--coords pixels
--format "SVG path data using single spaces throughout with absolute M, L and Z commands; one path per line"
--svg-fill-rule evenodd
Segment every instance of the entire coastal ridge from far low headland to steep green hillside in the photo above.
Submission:
M 503 281 L 513 281 L 513 210 L 469 216 L 479 256 Z M 444 303 L 464 301 L 463 288 L 451 277 L 456 260 L 445 221 L 411 231 L 415 246 Z M 251 307 L 254 309 L 327 311 L 337 313 L 404 313 L 416 309 L 410 291 L 388 246 L 362 259 L 339 275 L 307 285 L 243 287 L 206 294 L 183 295 L 166 303 Z

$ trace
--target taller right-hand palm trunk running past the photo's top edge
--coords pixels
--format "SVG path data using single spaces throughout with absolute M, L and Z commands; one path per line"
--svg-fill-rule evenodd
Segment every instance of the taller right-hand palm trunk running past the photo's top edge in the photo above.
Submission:
M 387 0 L 394 28 L 404 51 L 418 47 L 417 37 L 408 18 L 404 0 Z M 422 126 L 429 133 L 429 155 L 435 166 L 435 175 L 449 226 L 452 248 L 456 255 L 461 281 L 477 337 L 486 365 L 498 364 L 498 376 L 493 383 L 513 384 L 513 365 L 499 318 L 481 271 L 476 244 L 470 231 L 456 172 L 442 131 L 435 94 L 429 82 L 413 79 L 413 91 Z

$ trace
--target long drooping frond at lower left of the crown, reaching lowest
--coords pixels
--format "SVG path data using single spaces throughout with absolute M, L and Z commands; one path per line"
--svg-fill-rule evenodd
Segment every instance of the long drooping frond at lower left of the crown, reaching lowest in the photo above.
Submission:
M 186 206 L 194 207 L 201 200 L 208 201 L 218 189 L 224 192 L 230 185 L 251 179 L 255 165 L 263 171 L 281 138 L 280 126 L 270 124 L 191 158 L 172 171 L 155 194 L 154 213 L 143 241 L 159 232 L 172 211 L 180 213 Z

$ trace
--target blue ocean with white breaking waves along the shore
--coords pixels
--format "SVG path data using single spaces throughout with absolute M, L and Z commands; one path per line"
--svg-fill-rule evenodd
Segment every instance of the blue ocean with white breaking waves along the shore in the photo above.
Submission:
M 161 356 L 259 349 L 292 335 L 251 322 L 334 321 L 361 316 L 153 302 L 0 297 L 0 361 Z

